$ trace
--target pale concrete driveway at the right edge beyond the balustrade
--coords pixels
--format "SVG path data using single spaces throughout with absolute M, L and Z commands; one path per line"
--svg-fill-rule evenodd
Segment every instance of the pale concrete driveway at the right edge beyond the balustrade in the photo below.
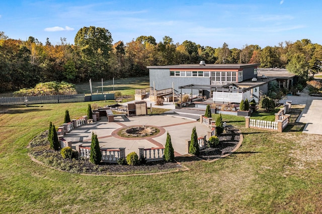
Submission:
M 304 88 L 299 96 L 287 96 L 280 103 L 285 103 L 286 100 L 292 100 L 292 104 L 305 105 L 296 120 L 306 124 L 303 133 L 322 135 L 322 97 L 310 96 L 307 88 Z

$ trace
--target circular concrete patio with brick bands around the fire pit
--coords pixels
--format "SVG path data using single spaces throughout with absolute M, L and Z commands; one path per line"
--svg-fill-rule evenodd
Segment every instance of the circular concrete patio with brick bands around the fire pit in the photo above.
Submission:
M 142 139 L 122 138 L 116 135 L 118 129 L 134 125 L 154 126 L 160 130 L 156 136 Z M 171 135 L 175 155 L 185 155 L 186 141 L 190 140 L 193 127 L 196 127 L 198 137 L 207 135 L 210 129 L 195 120 L 172 117 L 171 115 L 154 115 L 126 118 L 116 116 L 114 122 L 108 123 L 106 117 L 102 117 L 97 123 L 79 127 L 67 133 L 64 139 L 73 143 L 83 142 L 83 146 L 91 146 L 92 132 L 96 133 L 102 148 L 125 147 L 125 154 L 139 153 L 138 148 L 164 147 L 167 132 Z

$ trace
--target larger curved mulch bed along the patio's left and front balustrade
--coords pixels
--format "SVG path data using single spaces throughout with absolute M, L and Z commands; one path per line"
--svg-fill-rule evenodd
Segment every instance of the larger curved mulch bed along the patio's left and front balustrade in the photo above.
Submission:
M 60 151 L 54 151 L 49 148 L 47 136 L 48 131 L 36 136 L 29 144 L 29 153 L 44 165 L 69 173 L 121 175 L 168 172 L 183 169 L 178 163 L 165 161 L 154 161 L 130 166 L 103 162 L 100 165 L 95 165 L 89 159 L 82 157 L 64 159 Z

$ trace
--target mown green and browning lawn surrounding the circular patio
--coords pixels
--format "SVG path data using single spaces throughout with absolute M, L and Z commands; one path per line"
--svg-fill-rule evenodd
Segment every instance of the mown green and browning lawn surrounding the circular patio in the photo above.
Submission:
M 104 101 L 99 102 L 103 104 Z M 243 145 L 207 163 L 180 158 L 189 171 L 137 176 L 70 174 L 36 163 L 28 142 L 48 129 L 86 115 L 88 103 L 0 108 L 2 213 L 317 213 L 322 210 L 322 136 L 302 134 L 291 117 L 287 132 L 246 129 L 243 117 L 222 116 L 239 127 Z M 292 108 L 299 114 L 301 107 Z M 214 116 L 215 118 L 216 116 Z M 187 133 L 189 139 L 190 133 Z

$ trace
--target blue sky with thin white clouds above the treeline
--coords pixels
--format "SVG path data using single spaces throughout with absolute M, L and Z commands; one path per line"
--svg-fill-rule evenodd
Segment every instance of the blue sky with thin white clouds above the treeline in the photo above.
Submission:
M 2 0 L 0 31 L 24 41 L 49 38 L 55 45 L 60 38 L 73 44 L 79 29 L 95 26 L 109 30 L 113 43 L 144 35 L 156 42 L 169 36 L 174 43 L 213 48 L 264 48 L 301 39 L 322 44 L 321 9 L 320 0 Z

